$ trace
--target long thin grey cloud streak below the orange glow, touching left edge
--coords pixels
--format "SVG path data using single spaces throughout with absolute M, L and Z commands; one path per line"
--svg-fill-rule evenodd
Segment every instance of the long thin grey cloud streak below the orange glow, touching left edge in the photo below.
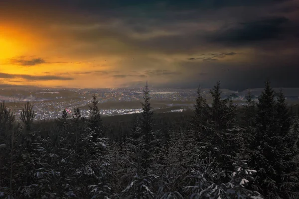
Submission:
M 21 79 L 25 79 L 25 80 L 35 80 L 35 81 L 74 80 L 74 78 L 70 78 L 70 77 L 61 77 L 61 76 L 53 76 L 53 75 L 32 76 L 32 75 L 19 75 L 19 74 L 8 74 L 8 73 L 0 73 L 0 78 L 2 78 L 2 79 L 21 78 Z

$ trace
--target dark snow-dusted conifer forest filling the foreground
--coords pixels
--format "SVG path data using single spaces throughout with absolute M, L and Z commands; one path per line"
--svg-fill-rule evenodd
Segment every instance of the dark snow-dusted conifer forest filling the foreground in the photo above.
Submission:
M 1 199 L 299 199 L 299 118 L 269 81 L 246 105 L 208 105 L 200 87 L 193 111 L 157 113 L 148 85 L 143 112 L 103 117 L 63 110 L 35 121 L 27 102 L 18 122 L 0 103 Z

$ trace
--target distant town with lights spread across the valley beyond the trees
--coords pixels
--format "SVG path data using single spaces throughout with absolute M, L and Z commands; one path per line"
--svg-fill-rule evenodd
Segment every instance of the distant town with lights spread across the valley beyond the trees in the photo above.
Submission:
M 275 89 L 279 91 L 279 89 Z M 162 112 L 183 111 L 193 106 L 196 89 L 151 89 L 151 104 L 153 109 Z M 248 92 L 255 100 L 262 89 L 249 89 L 242 92 L 222 90 L 222 98 L 231 97 L 235 104 L 245 104 Z M 299 102 L 299 89 L 283 90 L 289 103 Z M 202 89 L 202 95 L 209 102 L 209 89 Z M 99 108 L 103 115 L 132 114 L 141 111 L 143 88 L 132 89 L 0 89 L 0 100 L 16 114 L 18 118 L 23 104 L 27 101 L 34 105 L 36 120 L 57 118 L 63 109 L 72 113 L 74 108 L 81 109 L 82 116 L 88 116 L 91 96 L 96 94 Z

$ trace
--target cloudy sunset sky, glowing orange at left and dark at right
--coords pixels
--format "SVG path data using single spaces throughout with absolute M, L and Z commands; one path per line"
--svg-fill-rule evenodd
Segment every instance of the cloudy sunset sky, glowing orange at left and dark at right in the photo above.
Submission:
M 0 86 L 299 87 L 299 0 L 0 0 Z

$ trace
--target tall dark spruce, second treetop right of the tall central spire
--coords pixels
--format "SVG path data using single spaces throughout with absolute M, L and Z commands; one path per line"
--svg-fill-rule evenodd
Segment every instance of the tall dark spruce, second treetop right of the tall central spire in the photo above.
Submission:
M 236 106 L 232 100 L 221 99 L 220 82 L 210 90 L 211 107 L 207 107 L 208 119 L 204 126 L 206 131 L 201 136 L 201 158 L 207 158 L 209 153 L 217 160 L 219 168 L 231 170 L 232 157 L 239 150 L 239 139 L 235 126 Z

